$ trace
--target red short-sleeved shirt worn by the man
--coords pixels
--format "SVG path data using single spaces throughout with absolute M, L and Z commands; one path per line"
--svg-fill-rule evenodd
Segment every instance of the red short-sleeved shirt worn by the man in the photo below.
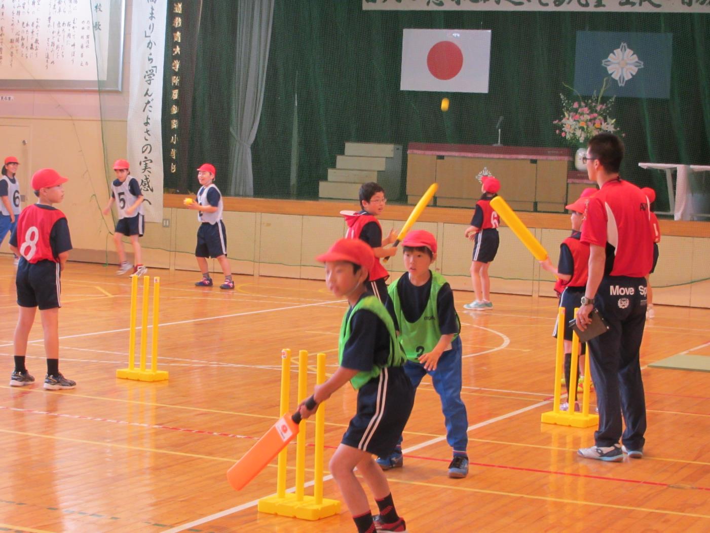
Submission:
M 653 235 L 648 200 L 633 183 L 616 179 L 589 199 L 581 242 L 606 248 L 605 276 L 648 275 L 653 263 Z

